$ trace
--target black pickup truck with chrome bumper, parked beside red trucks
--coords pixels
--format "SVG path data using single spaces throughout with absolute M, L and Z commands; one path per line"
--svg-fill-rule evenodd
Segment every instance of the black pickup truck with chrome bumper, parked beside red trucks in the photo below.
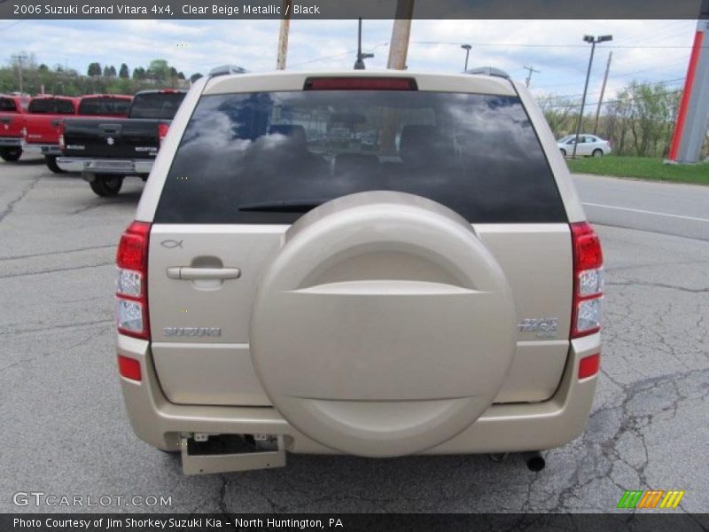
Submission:
M 115 196 L 125 176 L 147 179 L 185 90 L 143 90 L 128 118 L 67 118 L 60 129 L 58 167 L 81 172 L 99 196 Z

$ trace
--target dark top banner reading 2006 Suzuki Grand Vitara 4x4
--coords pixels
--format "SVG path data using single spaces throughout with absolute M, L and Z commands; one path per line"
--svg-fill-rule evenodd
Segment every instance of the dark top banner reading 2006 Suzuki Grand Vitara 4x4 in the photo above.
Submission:
M 0 19 L 394 19 L 397 0 L 0 0 Z M 709 0 L 414 0 L 414 19 L 699 19 Z

